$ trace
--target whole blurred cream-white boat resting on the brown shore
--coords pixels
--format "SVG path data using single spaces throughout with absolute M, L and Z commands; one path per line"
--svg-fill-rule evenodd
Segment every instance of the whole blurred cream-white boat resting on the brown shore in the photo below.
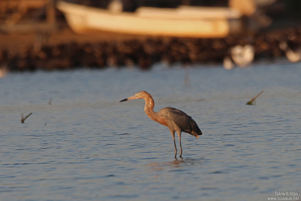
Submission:
M 240 12 L 227 7 L 139 7 L 131 13 L 59 1 L 57 8 L 64 13 L 67 23 L 76 33 L 99 30 L 153 36 L 223 38 L 239 33 L 242 26 Z

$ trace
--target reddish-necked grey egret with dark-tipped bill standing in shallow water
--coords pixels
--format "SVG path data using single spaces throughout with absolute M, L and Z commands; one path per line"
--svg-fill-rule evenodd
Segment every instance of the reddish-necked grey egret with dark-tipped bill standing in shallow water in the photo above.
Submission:
M 146 91 L 141 91 L 136 93 L 134 96 L 123 99 L 119 102 L 124 102 L 132 99 L 144 99 L 145 106 L 144 111 L 149 118 L 158 123 L 167 126 L 172 135 L 173 144 L 175 146 L 175 131 L 178 134 L 180 141 L 180 158 L 182 158 L 182 145 L 181 145 L 181 132 L 189 133 L 197 138 L 199 135 L 202 135 L 201 130 L 197 126 L 197 123 L 185 112 L 181 110 L 166 107 L 161 109 L 159 112 L 154 112 L 155 102 L 151 96 L 151 94 Z M 177 147 L 175 146 L 175 158 L 177 157 Z

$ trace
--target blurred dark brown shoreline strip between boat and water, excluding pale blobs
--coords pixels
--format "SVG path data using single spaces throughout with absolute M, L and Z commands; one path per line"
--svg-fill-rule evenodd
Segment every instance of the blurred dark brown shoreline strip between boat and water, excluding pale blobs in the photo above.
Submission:
M 39 35 L 40 34 L 40 35 Z M 284 57 L 285 42 L 291 50 L 301 47 L 301 28 L 268 30 L 255 35 L 225 39 L 148 37 L 103 32 L 78 35 L 69 28 L 51 35 L 0 34 L 0 67 L 8 71 L 56 70 L 79 67 L 151 68 L 156 62 L 172 65 L 221 63 L 231 48 L 250 44 L 254 60 Z

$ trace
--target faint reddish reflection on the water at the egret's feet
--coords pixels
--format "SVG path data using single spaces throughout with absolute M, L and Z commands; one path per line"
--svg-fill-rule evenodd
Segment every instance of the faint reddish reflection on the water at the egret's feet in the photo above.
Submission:
M 205 161 L 205 158 L 199 158 L 199 159 L 174 159 L 170 162 L 150 162 L 148 166 L 151 168 L 151 170 L 162 170 L 166 167 L 183 167 L 183 165 L 200 165 Z

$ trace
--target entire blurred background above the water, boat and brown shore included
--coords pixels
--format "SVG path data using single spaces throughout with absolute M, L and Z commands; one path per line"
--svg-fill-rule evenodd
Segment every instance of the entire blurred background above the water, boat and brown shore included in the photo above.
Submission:
M 301 59 L 299 0 L 0 0 L 0 69 Z

